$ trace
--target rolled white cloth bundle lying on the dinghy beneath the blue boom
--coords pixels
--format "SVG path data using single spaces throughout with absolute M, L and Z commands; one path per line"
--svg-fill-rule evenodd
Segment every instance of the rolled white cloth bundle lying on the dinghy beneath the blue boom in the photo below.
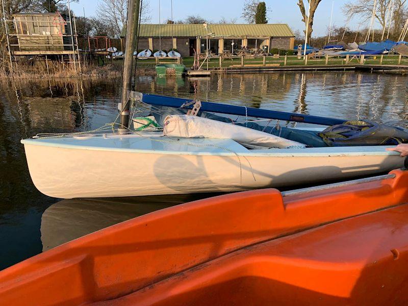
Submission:
M 169 115 L 164 119 L 164 135 L 232 139 L 249 148 L 304 148 L 304 144 L 231 123 L 189 115 Z

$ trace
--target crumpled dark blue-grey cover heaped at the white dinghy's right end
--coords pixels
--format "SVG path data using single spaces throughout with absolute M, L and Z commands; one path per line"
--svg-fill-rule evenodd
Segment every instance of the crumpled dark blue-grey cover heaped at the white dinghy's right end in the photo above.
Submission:
M 396 145 L 408 141 L 408 131 L 372 121 L 347 121 L 319 134 L 329 146 Z

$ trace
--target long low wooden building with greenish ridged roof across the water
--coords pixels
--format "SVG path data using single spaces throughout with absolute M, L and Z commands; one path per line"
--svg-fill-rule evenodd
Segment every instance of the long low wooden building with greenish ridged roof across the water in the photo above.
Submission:
M 138 49 L 177 49 L 182 56 L 194 50 L 214 54 L 234 53 L 241 48 L 293 49 L 295 35 L 287 24 L 141 24 Z M 121 38 L 126 35 L 123 28 Z

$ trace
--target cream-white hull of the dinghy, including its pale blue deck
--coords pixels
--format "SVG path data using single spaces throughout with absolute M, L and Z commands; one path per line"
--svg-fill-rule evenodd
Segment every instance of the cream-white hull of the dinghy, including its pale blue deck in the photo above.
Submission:
M 227 139 L 140 136 L 95 137 L 91 146 L 81 145 L 84 140 L 55 141 L 22 142 L 35 186 L 57 198 L 289 187 L 386 172 L 403 165 L 403 159 L 384 146 L 248 150 Z

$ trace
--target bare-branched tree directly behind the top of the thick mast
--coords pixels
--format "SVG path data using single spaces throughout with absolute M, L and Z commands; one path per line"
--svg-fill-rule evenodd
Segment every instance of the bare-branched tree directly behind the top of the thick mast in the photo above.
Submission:
M 127 19 L 127 0 L 100 0 L 96 14 L 99 21 L 108 26 L 109 36 L 118 37 Z M 149 2 L 143 0 L 141 23 L 146 23 L 150 20 Z

